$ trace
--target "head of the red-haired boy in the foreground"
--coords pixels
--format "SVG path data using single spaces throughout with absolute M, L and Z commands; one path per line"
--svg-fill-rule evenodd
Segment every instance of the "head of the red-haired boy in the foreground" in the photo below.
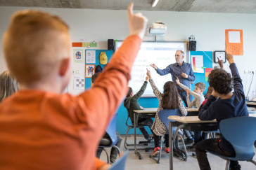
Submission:
M 8 69 L 20 85 L 56 81 L 64 90 L 70 79 L 70 35 L 59 17 L 37 10 L 15 13 L 4 34 Z

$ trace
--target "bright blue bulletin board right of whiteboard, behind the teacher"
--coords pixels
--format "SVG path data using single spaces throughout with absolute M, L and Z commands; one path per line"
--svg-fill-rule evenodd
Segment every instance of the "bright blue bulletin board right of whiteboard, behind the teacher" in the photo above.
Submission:
M 206 55 L 205 55 L 206 54 Z M 212 68 L 212 61 L 210 59 L 212 59 L 212 51 L 191 51 L 190 52 L 190 57 L 191 55 L 203 55 L 203 67 L 205 68 Z M 210 59 L 207 57 L 207 55 L 210 57 Z M 192 63 L 191 63 L 192 65 Z M 191 90 L 195 89 L 195 84 L 196 83 L 205 83 L 205 92 L 203 94 L 206 94 L 207 92 L 207 88 L 209 87 L 209 83 L 205 80 L 205 69 L 204 69 L 204 73 L 194 73 L 195 74 L 195 81 L 194 83 L 191 85 Z

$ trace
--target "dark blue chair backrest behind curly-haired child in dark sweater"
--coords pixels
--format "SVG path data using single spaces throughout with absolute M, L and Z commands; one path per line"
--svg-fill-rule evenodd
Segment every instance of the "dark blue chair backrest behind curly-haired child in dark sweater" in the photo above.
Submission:
M 224 119 L 219 123 L 219 130 L 233 146 L 236 160 L 252 160 L 253 144 L 256 141 L 256 118 L 241 116 Z

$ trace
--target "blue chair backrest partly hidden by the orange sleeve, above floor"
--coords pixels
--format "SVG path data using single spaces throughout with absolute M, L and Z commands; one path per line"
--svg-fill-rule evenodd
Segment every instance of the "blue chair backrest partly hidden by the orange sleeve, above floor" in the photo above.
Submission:
M 117 128 L 117 113 L 115 113 L 115 115 L 113 115 L 112 120 L 110 121 L 107 129 L 105 130 L 105 132 L 108 134 L 108 136 L 110 137 L 111 140 L 111 146 L 115 146 L 115 144 L 117 143 L 117 134 L 116 134 L 116 128 Z

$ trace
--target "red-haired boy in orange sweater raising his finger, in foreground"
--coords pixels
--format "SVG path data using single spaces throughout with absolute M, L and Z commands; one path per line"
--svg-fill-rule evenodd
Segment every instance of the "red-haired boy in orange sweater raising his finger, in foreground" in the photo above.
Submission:
M 15 13 L 4 55 L 20 90 L 0 104 L 0 169 L 107 169 L 96 148 L 127 93 L 147 19 L 128 8 L 130 36 L 94 87 L 62 94 L 70 81 L 70 35 L 59 17 Z M 124 62 L 125 61 L 125 62 Z

